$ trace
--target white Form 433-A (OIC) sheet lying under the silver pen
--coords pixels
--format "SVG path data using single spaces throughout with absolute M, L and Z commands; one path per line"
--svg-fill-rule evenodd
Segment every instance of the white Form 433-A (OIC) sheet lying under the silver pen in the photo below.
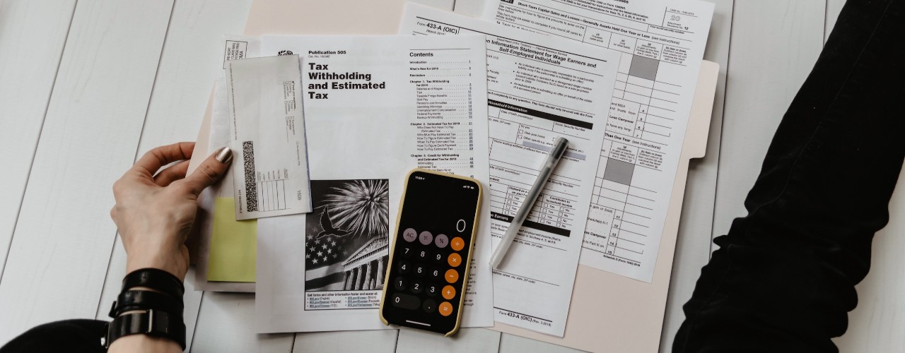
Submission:
M 400 33 L 486 34 L 493 246 L 554 140 L 567 152 L 498 270 L 494 320 L 562 337 L 619 55 L 407 4 Z M 484 263 L 486 264 L 486 263 Z

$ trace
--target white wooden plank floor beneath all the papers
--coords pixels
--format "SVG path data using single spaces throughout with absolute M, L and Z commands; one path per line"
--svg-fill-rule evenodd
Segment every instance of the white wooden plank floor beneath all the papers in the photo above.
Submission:
M 767 144 L 842 7 L 842 0 L 711 1 L 717 6 L 705 59 L 719 62 L 721 75 L 708 155 L 691 163 L 662 351 L 670 350 L 710 238 L 744 215 L 742 200 Z M 0 345 L 51 320 L 106 319 L 125 264 L 109 217 L 110 186 L 148 149 L 195 138 L 218 39 L 243 32 L 250 5 L 0 0 Z M 480 7 L 481 0 L 455 3 L 464 14 Z M 874 241 L 873 270 L 858 287 L 849 332 L 836 340 L 843 351 L 905 347 L 902 189 L 890 226 Z M 409 330 L 257 335 L 253 300 L 189 291 L 189 349 L 571 350 L 483 329 L 456 339 Z

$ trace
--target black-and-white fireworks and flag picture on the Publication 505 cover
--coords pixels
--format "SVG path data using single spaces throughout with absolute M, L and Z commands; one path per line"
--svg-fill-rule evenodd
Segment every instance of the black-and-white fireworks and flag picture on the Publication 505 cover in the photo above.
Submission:
M 389 181 L 311 181 L 305 221 L 305 292 L 383 289 Z

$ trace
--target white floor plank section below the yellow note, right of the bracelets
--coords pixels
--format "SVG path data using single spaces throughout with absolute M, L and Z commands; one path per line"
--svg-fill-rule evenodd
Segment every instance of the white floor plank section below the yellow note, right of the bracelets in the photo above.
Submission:
M 198 312 L 191 351 L 292 351 L 292 333 L 258 334 L 254 331 L 253 293 L 206 292 Z

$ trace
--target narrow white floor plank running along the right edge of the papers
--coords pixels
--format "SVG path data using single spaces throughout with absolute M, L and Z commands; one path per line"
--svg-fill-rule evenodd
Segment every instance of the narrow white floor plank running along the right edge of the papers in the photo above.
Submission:
M 715 4 L 713 20 L 704 60 L 719 64 L 717 92 L 710 117 L 710 134 L 704 158 L 691 160 L 688 181 L 685 184 L 685 200 L 679 221 L 679 237 L 676 239 L 675 258 L 672 261 L 670 292 L 666 299 L 660 351 L 672 351 L 672 340 L 679 330 L 685 314 L 681 306 L 691 298 L 698 281 L 700 267 L 710 259 L 710 234 L 713 230 L 714 200 L 717 193 L 719 167 L 719 143 L 723 125 L 723 104 L 726 95 L 727 67 L 729 63 L 729 37 L 732 29 L 732 0 L 708 0 Z

